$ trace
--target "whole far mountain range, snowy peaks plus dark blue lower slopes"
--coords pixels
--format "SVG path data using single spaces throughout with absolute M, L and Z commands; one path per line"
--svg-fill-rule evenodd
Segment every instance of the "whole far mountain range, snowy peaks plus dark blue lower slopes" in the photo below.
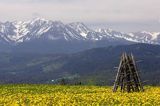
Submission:
M 0 52 L 75 53 L 135 43 L 160 45 L 160 33 L 93 30 L 81 22 L 63 24 L 42 18 L 0 23 Z

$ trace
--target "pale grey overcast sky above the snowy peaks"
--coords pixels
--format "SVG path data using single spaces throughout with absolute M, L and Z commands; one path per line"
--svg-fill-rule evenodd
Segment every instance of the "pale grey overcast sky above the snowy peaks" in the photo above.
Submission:
M 0 0 L 0 21 L 42 17 L 119 31 L 160 31 L 160 0 Z

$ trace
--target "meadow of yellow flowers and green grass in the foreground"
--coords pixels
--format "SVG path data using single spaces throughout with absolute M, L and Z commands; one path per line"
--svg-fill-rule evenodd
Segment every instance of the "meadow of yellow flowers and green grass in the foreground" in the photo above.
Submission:
M 0 85 L 0 106 L 160 106 L 160 87 L 112 92 L 111 87 Z

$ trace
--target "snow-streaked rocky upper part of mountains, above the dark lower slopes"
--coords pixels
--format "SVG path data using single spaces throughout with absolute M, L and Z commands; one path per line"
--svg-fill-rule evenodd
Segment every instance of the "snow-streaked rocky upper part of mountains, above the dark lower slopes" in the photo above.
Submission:
M 36 18 L 30 21 L 0 22 L 0 42 L 19 44 L 36 39 L 69 41 L 126 40 L 136 43 L 160 44 L 160 32 L 124 33 L 112 29 L 90 29 L 80 22 L 63 24 Z

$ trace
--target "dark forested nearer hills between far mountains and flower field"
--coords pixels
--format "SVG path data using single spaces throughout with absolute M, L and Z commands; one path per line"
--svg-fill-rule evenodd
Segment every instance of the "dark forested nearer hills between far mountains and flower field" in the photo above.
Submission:
M 83 84 L 113 85 L 120 56 L 133 53 L 142 81 L 160 85 L 160 46 L 95 48 L 73 54 L 0 53 L 0 83 L 55 83 L 66 78 Z M 145 83 L 145 84 L 146 84 Z

